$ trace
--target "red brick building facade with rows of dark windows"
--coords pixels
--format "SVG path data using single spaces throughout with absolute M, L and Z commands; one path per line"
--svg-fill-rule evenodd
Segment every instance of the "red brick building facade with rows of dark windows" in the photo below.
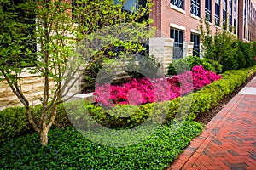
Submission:
M 153 0 L 152 26 L 157 37 L 173 39 L 172 59 L 188 54 L 188 44 L 193 44 L 193 55 L 200 55 L 199 26 L 209 21 L 212 34 L 221 30 L 227 22 L 227 30 L 233 28 L 242 41 L 256 40 L 255 0 Z

